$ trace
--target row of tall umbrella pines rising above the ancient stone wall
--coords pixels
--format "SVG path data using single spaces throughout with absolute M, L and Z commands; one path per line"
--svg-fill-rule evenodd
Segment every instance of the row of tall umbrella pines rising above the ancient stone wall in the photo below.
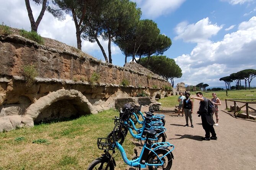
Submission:
M 157 24 L 150 19 L 140 19 L 142 11 L 129 0 L 31 0 L 42 9 L 36 21 L 29 0 L 25 0 L 31 31 L 37 32 L 45 11 L 63 21 L 66 14 L 72 16 L 81 50 L 82 40 L 96 42 L 107 63 L 112 63 L 111 43 L 115 43 L 127 58 L 141 64 L 155 74 L 170 80 L 182 76 L 173 59 L 162 55 L 171 46 L 171 39 L 160 34 Z M 68 34 L 68 33 L 63 33 Z M 99 38 L 108 41 L 108 56 Z

